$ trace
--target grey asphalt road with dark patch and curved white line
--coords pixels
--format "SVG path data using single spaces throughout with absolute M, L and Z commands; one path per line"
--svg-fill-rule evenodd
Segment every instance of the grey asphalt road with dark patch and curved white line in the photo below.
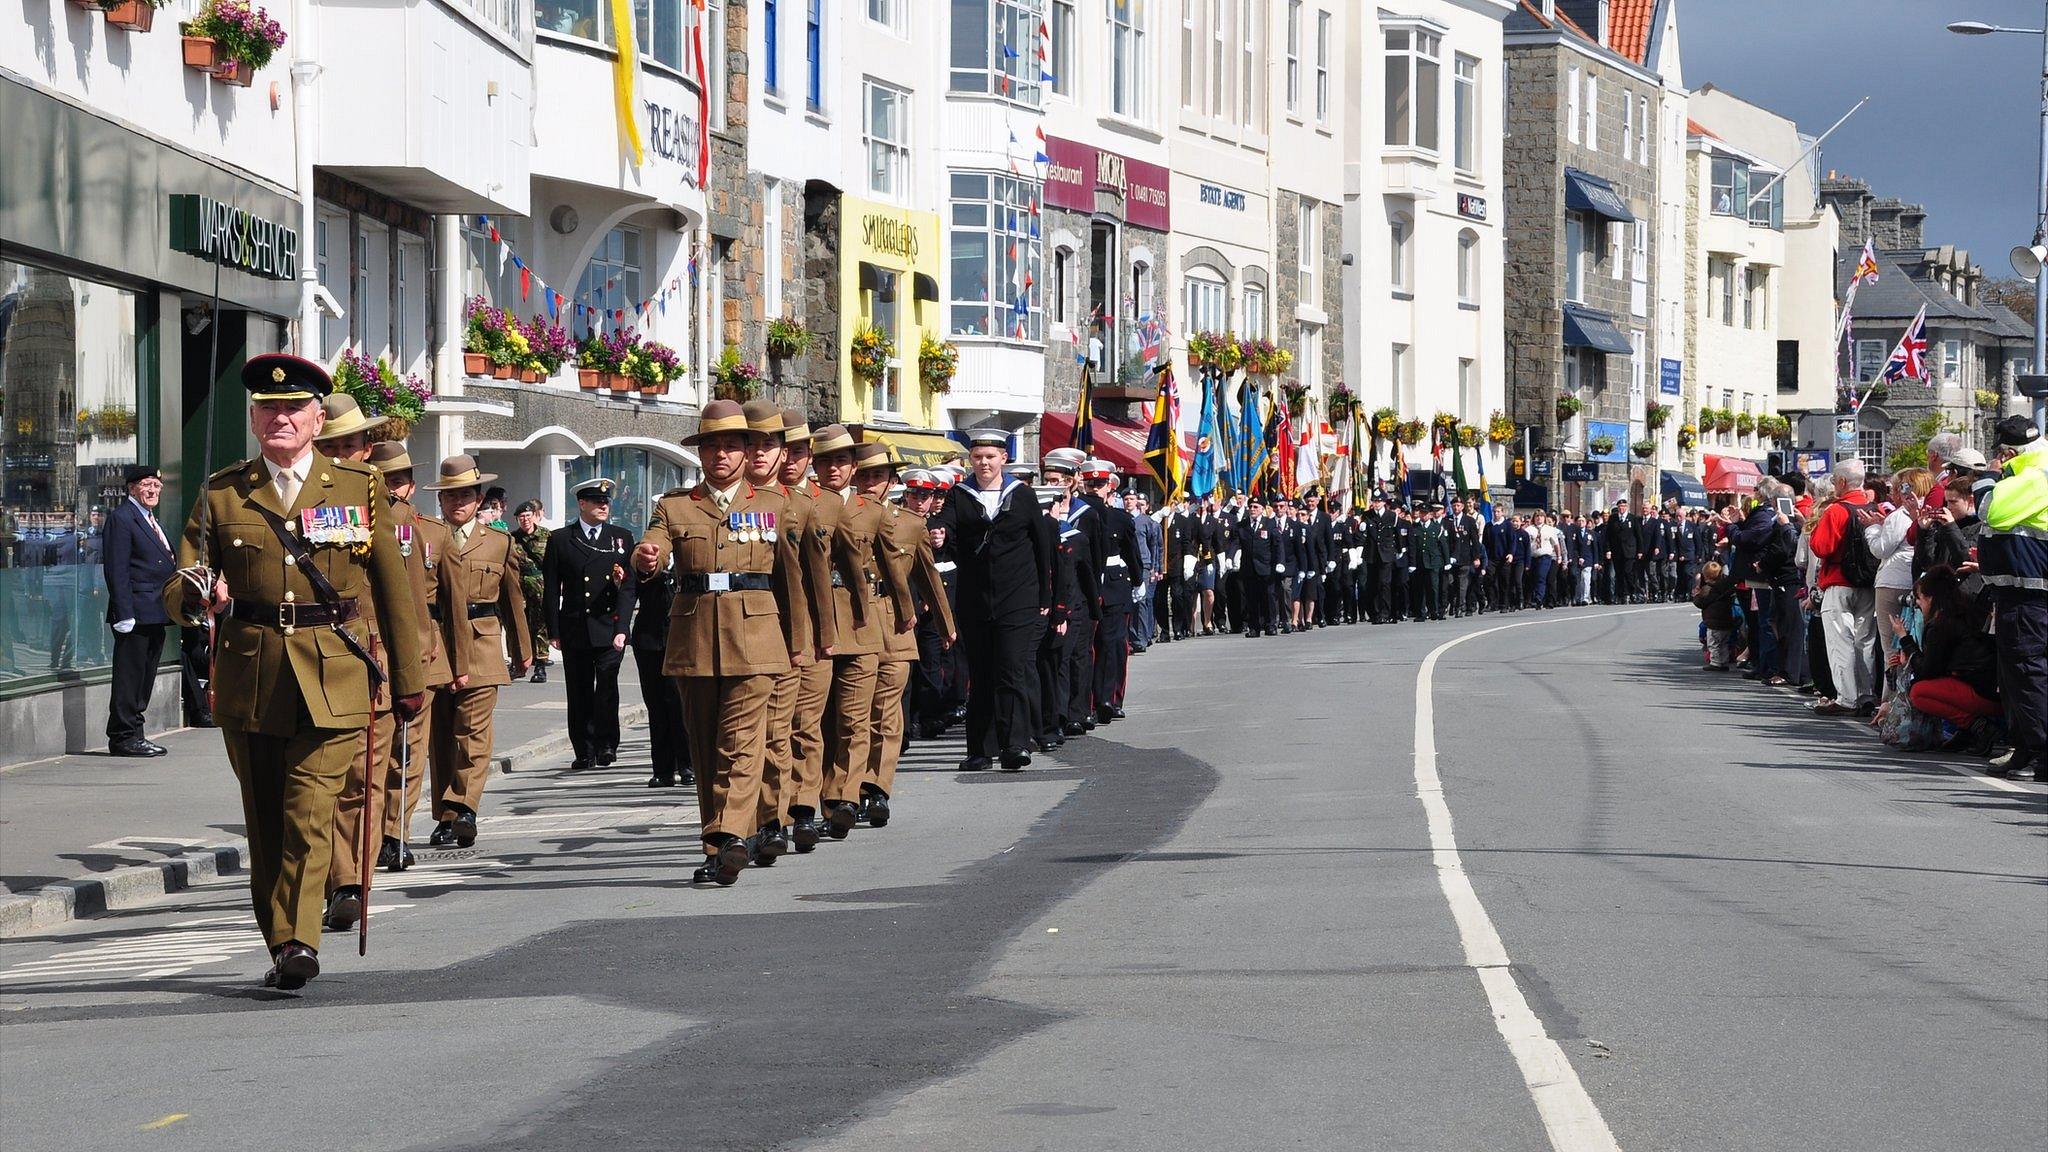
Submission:
M 2040 1148 L 2048 789 L 1692 627 L 1155 648 L 733 890 L 631 748 L 502 777 L 303 996 L 233 881 L 0 943 L 0 1148 Z

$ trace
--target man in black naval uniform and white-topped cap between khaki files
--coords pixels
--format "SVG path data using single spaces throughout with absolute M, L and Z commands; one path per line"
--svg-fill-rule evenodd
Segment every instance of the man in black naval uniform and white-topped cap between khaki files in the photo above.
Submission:
M 578 486 L 575 523 L 551 533 L 541 553 L 541 615 L 569 685 L 571 771 L 618 758 L 618 664 L 639 582 L 627 580 L 633 535 L 610 523 L 612 488 L 602 476 Z

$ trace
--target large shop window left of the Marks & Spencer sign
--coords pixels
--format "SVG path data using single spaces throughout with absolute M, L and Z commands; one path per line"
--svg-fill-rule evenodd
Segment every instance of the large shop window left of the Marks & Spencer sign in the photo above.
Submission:
M 139 330 L 135 293 L 0 260 L 0 691 L 109 662 L 100 523 L 156 461 Z

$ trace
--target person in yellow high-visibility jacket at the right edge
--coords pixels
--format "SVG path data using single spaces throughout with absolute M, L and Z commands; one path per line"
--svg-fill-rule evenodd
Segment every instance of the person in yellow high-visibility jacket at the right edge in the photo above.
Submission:
M 1999 695 L 2013 754 L 1995 775 L 2048 781 L 2048 441 L 2028 416 L 1999 420 L 1999 482 L 1978 506 L 1978 572 L 1997 607 Z

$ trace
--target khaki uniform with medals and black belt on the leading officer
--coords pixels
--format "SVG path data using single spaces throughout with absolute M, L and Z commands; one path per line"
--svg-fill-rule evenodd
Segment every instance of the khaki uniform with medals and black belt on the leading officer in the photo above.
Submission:
M 270 361 L 297 357 L 254 357 L 248 371 Z M 315 365 L 299 371 L 307 369 L 319 371 Z M 268 465 L 252 459 L 207 478 L 201 498 L 205 517 L 195 508 L 178 564 L 211 566 L 233 596 L 215 642 L 213 719 L 242 781 L 256 922 L 272 949 L 287 943 L 317 949 L 334 859 L 334 804 L 350 765 L 360 767 L 373 715 L 371 676 L 326 623 L 330 611 L 262 512 L 281 517 L 309 543 L 313 566 L 340 596 L 340 627 L 365 650 L 367 609 L 383 619 L 412 619 L 416 611 L 406 560 L 391 517 L 383 515 L 383 478 L 369 465 L 309 457 L 299 494 L 285 506 Z M 309 525 L 311 508 L 360 519 L 365 539 L 322 539 L 332 525 Z M 182 601 L 182 582 L 166 588 L 172 611 Z M 420 633 L 397 629 L 387 644 L 391 693 L 418 693 Z

